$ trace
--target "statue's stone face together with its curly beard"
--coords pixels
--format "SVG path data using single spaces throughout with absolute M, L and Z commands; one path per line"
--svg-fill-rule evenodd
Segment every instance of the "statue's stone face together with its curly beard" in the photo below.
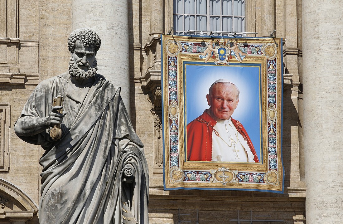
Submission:
M 94 77 L 97 70 L 94 46 L 83 46 L 78 40 L 69 61 L 69 74 L 76 79 Z

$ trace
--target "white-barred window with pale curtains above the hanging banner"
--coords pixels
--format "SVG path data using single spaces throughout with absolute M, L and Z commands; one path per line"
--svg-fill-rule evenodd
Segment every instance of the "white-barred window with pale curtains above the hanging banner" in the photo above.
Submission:
M 174 0 L 174 34 L 199 34 L 187 30 L 245 32 L 244 0 Z

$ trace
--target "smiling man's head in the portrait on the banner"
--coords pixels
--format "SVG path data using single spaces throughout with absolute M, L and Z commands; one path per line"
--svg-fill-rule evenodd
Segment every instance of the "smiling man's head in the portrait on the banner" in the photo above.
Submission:
M 222 120 L 232 116 L 239 101 L 236 87 L 227 82 L 214 84 L 212 94 L 207 94 L 206 98 L 213 114 Z

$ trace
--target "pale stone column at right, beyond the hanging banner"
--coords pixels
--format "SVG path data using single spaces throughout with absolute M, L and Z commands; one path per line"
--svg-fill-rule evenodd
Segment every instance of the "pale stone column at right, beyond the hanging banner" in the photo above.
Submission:
M 306 223 L 342 223 L 343 1 L 303 0 Z

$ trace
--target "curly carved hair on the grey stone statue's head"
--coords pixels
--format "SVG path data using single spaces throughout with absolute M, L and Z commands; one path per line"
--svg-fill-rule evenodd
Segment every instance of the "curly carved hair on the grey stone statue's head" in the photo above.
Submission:
M 74 53 L 75 50 L 75 41 L 79 40 L 83 46 L 88 47 L 94 45 L 95 54 L 98 52 L 101 40 L 100 37 L 95 31 L 87 29 L 87 28 L 80 28 L 71 32 L 68 38 L 68 48 L 71 53 Z

